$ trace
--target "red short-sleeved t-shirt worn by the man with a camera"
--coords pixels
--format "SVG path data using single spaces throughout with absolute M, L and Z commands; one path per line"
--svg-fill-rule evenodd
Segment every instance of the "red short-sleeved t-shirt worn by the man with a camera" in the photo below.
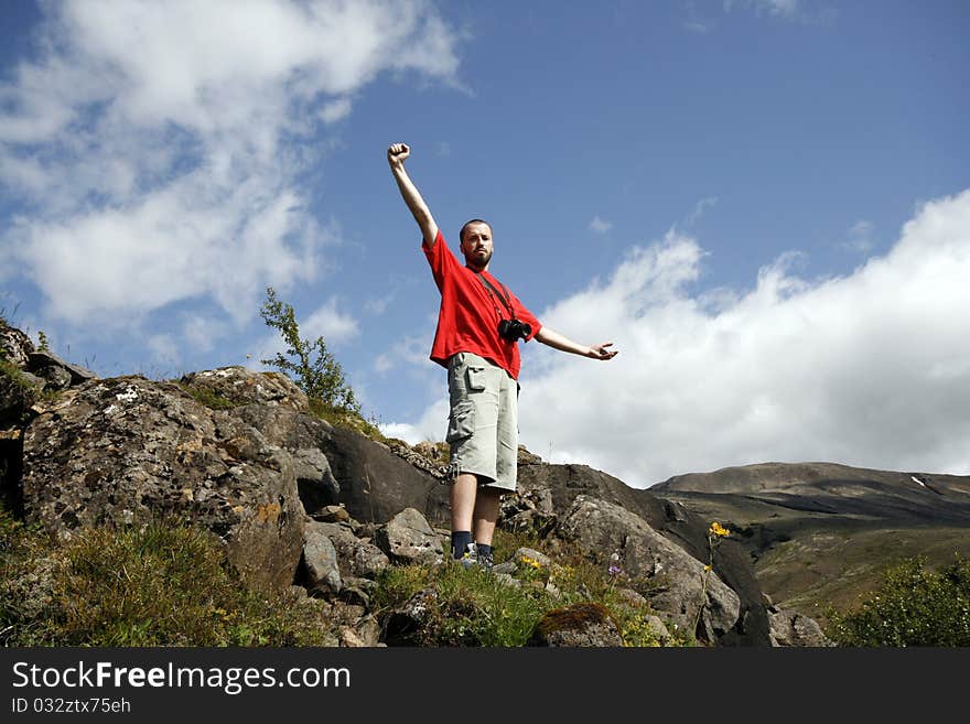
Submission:
M 429 249 L 422 244 L 421 248 L 424 249 L 434 283 L 441 292 L 441 309 L 438 312 L 438 329 L 431 346 L 431 359 L 448 366 L 452 355 L 471 352 L 491 359 L 511 375 L 513 379 L 518 379 L 521 364 L 519 346 L 498 336 L 498 321 L 509 318 L 508 310 L 476 279 L 474 271 L 459 262 L 444 242 L 441 229 L 438 230 L 433 247 Z M 487 271 L 483 271 L 482 275 L 503 293 L 515 317 L 532 327 L 526 342 L 535 337 L 542 326 L 539 320 L 495 277 Z

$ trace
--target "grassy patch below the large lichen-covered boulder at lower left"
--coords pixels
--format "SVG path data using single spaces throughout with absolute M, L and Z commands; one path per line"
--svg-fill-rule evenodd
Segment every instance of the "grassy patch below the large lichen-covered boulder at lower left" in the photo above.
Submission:
M 323 646 L 314 601 L 242 585 L 212 533 L 179 522 L 58 544 L 0 517 L 6 646 Z

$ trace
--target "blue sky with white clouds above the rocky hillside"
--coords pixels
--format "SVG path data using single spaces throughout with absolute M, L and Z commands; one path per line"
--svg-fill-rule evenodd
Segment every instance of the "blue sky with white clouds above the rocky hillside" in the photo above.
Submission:
M 647 487 L 970 474 L 970 6 L 11 2 L 0 309 L 101 376 L 258 367 L 272 285 L 389 434 L 444 433 L 386 163 L 599 364 L 528 344 L 521 442 Z

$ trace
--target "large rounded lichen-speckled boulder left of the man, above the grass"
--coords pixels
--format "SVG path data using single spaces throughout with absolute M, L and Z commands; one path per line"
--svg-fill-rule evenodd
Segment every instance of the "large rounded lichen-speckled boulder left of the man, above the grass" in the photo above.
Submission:
M 90 381 L 35 404 L 23 436 L 28 520 L 85 526 L 183 516 L 218 533 L 249 580 L 292 582 L 305 514 L 293 457 L 172 382 Z

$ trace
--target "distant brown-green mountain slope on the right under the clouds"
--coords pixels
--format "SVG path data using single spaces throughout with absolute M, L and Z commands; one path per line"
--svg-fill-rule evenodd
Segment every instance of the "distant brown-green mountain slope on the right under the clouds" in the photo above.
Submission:
M 649 488 L 719 520 L 773 601 L 824 622 L 898 560 L 970 555 L 970 476 L 833 463 L 763 463 L 677 475 Z

